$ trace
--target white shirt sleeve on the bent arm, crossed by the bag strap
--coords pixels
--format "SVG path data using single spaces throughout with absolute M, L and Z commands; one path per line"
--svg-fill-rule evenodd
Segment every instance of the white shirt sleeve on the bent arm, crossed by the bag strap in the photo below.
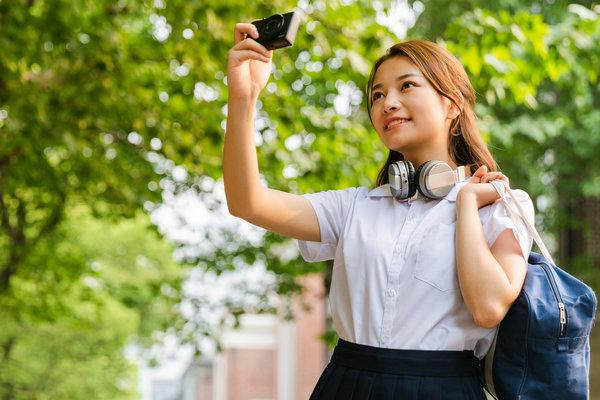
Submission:
M 527 220 L 535 226 L 535 218 L 534 218 L 534 208 L 533 202 L 529 195 L 522 190 L 513 190 L 515 197 L 519 201 L 519 204 L 523 207 L 525 211 L 525 217 Z M 512 200 L 509 200 L 512 202 Z M 511 229 L 515 238 L 519 242 L 521 246 L 521 251 L 523 252 L 523 257 L 525 260 L 529 258 L 529 252 L 531 251 L 531 245 L 533 243 L 533 239 L 527 230 L 527 226 L 522 221 L 519 223 L 518 227 L 515 227 L 512 220 L 508 216 L 506 209 L 502 202 L 497 201 L 496 203 L 490 205 L 489 207 L 485 207 L 480 210 L 480 217 L 483 225 L 483 232 L 485 234 L 485 239 L 489 247 L 492 247 L 498 239 L 498 236 L 504 230 Z

